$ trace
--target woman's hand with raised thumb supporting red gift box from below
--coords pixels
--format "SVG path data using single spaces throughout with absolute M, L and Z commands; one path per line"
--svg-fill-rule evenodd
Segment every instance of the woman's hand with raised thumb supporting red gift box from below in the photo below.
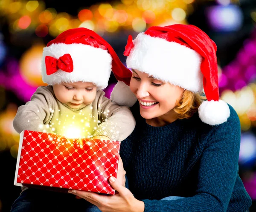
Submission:
M 78 190 L 69 190 L 68 192 L 96 205 L 102 212 L 144 212 L 145 206 L 143 201 L 134 198 L 129 189 L 123 187 L 122 183 L 119 183 L 114 177 L 111 177 L 109 182 L 111 186 L 118 191 L 118 194 L 104 196 L 93 192 Z

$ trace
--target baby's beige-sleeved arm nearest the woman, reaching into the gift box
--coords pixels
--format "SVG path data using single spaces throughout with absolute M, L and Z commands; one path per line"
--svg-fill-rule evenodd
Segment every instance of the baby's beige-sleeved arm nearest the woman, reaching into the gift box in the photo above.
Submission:
M 101 93 L 99 93 L 101 92 Z M 107 136 L 111 140 L 122 141 L 126 139 L 134 130 L 135 119 L 128 107 L 116 105 L 110 99 L 106 98 L 103 91 L 98 91 L 98 129 L 93 136 Z

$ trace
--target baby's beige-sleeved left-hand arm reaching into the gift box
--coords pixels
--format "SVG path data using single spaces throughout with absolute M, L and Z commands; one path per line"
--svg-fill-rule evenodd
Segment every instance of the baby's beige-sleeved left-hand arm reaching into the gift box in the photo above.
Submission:
M 13 120 L 13 127 L 17 133 L 21 133 L 23 130 L 53 133 L 49 125 L 44 124 L 50 118 L 53 110 L 52 98 L 49 88 L 39 87 L 31 97 L 31 101 L 18 108 Z

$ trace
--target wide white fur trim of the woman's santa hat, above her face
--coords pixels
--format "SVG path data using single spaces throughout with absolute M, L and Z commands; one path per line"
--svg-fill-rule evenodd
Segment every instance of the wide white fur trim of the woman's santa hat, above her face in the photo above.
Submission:
M 203 91 L 202 57 L 196 51 L 144 33 L 133 42 L 134 48 L 126 60 L 128 68 L 193 92 Z

